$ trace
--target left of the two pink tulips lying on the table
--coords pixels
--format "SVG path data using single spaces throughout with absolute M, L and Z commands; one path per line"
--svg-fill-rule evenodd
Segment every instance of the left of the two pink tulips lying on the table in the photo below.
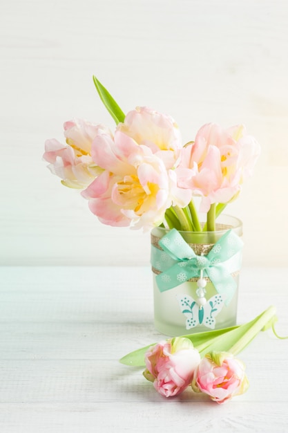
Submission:
M 180 394 L 191 384 L 200 354 L 188 338 L 163 341 L 148 350 L 144 376 L 165 397 Z

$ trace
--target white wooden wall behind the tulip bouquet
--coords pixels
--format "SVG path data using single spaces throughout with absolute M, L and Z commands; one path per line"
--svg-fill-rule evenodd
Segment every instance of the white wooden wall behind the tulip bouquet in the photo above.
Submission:
M 101 225 L 41 160 L 66 120 L 114 127 L 93 74 L 124 111 L 170 113 L 184 141 L 244 123 L 262 156 L 227 212 L 244 265 L 287 264 L 287 22 L 284 0 L 1 0 L 1 264 L 148 264 L 148 234 Z

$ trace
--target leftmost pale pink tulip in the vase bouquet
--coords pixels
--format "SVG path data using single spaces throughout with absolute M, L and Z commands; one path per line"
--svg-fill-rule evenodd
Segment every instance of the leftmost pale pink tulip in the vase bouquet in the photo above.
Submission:
M 55 139 L 45 142 L 44 159 L 50 163 L 50 171 L 68 187 L 85 188 L 102 172 L 93 162 L 91 145 L 95 136 L 104 132 L 110 133 L 106 127 L 84 120 L 65 122 L 67 145 Z

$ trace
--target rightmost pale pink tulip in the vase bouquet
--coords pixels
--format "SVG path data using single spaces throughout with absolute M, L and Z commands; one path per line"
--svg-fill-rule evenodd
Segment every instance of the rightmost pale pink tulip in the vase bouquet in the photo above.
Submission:
M 204 125 L 195 142 L 182 149 L 178 185 L 202 196 L 200 212 L 208 212 L 211 204 L 228 203 L 240 192 L 259 154 L 258 142 L 244 126 L 225 130 L 214 123 Z

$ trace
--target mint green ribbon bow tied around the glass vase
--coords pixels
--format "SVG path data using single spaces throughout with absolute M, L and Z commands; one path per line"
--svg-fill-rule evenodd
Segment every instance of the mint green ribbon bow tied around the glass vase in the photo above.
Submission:
M 175 229 L 165 234 L 159 245 L 163 251 L 153 247 L 151 264 L 161 271 L 156 276 L 160 292 L 179 286 L 191 278 L 200 277 L 202 270 L 203 276 L 209 277 L 216 291 L 223 295 L 225 304 L 229 304 L 237 286 L 231 276 L 231 263 L 233 271 L 239 270 L 241 266 L 240 251 L 243 243 L 237 234 L 228 230 L 206 256 L 196 255 Z M 165 269 L 166 266 L 168 268 Z

